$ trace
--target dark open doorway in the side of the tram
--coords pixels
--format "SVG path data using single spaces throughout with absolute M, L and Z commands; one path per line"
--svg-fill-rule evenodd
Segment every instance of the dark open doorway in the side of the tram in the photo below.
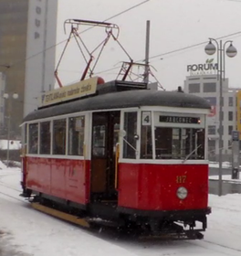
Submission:
M 115 154 L 121 112 L 95 112 L 92 117 L 91 201 L 115 201 Z

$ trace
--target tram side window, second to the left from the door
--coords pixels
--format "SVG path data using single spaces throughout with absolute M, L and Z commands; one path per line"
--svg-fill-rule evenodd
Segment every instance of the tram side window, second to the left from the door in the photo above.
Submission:
M 53 122 L 53 155 L 65 155 L 66 152 L 66 119 Z

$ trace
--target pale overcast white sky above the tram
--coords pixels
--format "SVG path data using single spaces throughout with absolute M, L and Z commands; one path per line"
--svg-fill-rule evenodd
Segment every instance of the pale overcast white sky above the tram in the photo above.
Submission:
M 150 0 L 131 11 L 111 19 L 109 22 L 121 27 L 119 37 L 121 44 L 134 60 L 144 59 L 146 21 L 151 20 L 151 49 L 150 56 L 166 53 L 178 48 L 184 48 L 204 41 L 208 37 L 223 37 L 241 31 L 241 1 L 229 0 Z M 60 42 L 68 37 L 64 34 L 63 22 L 68 18 L 89 20 L 105 20 L 141 0 L 58 0 L 58 39 Z M 82 31 L 86 27 L 80 27 Z M 68 30 L 69 31 L 69 30 Z M 100 37 L 101 29 L 91 29 L 83 34 L 87 45 L 96 46 L 104 37 Z M 68 32 L 69 33 L 69 32 Z M 100 41 L 97 41 L 97 38 Z M 241 52 L 241 34 L 226 39 L 234 40 L 234 46 Z M 74 41 L 72 41 L 74 42 Z M 93 44 L 95 43 L 95 44 Z M 151 59 L 154 72 L 162 86 L 167 90 L 176 89 L 183 85 L 188 75 L 188 64 L 204 63 L 208 56 L 204 53 L 204 46 L 191 48 L 181 52 Z M 64 44 L 57 48 L 57 60 Z M 162 58 L 162 60 L 161 60 Z M 97 71 L 111 69 L 120 65 L 120 61 L 128 60 L 116 43 L 110 43 L 102 55 L 102 62 Z M 83 70 L 83 60 L 79 50 L 70 44 L 67 53 L 59 67 L 59 77 L 64 84 L 76 81 L 80 77 L 78 70 Z M 118 64 L 119 63 L 119 64 Z M 235 59 L 226 58 L 226 77 L 231 87 L 240 87 L 239 69 L 241 54 Z M 119 69 L 108 74 L 101 74 L 105 80 L 115 79 Z M 115 73 L 115 74 L 113 74 Z

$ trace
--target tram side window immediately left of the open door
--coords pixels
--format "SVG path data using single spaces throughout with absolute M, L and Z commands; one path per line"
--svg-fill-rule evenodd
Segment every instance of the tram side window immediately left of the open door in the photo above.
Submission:
M 84 155 L 85 117 L 68 119 L 68 155 Z

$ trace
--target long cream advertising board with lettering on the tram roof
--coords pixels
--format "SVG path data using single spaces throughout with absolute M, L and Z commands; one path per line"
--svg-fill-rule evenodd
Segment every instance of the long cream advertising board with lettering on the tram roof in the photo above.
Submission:
M 47 91 L 39 99 L 39 107 L 56 104 L 63 101 L 69 101 L 90 94 L 96 93 L 98 78 L 89 80 L 80 80 L 77 83 L 64 86 L 62 88 Z

